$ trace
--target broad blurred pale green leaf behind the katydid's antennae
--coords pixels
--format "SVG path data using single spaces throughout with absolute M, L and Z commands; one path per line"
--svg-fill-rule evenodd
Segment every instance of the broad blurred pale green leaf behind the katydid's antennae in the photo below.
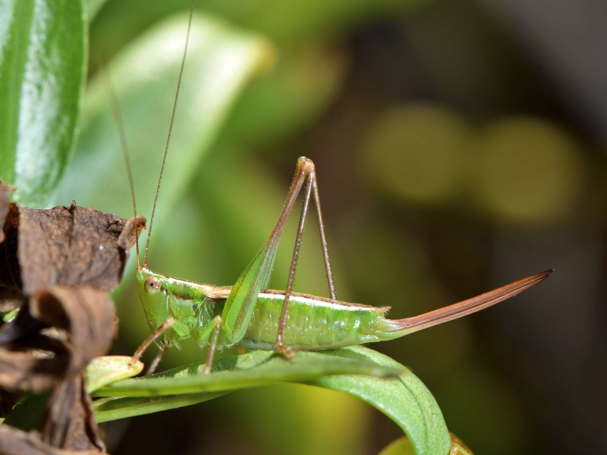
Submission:
M 187 24 L 186 15 L 161 23 L 109 64 L 130 147 L 139 214 L 152 210 Z M 171 220 L 171 207 L 196 177 L 243 87 L 273 58 L 265 39 L 194 15 L 155 232 Z M 83 206 L 132 216 L 118 130 L 100 78 L 87 92 L 81 138 L 62 194 L 62 203 L 73 198 Z

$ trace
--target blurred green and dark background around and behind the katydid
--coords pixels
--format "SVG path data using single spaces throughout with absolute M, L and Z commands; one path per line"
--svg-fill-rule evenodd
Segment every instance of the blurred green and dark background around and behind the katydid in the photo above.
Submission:
M 149 217 L 188 1 L 109 0 L 97 12 L 98 4 L 89 2 L 83 128 L 58 202 L 132 216 L 118 134 L 96 79 L 107 59 L 139 213 Z M 600 453 L 607 70 L 599 38 L 607 37 L 597 17 L 607 11 L 599 0 L 586 9 L 564 0 L 534 5 L 199 1 L 197 14 L 223 27 L 221 45 L 226 36 L 249 40 L 242 58 L 250 61 L 232 84 L 231 51 L 217 45 L 211 59 L 192 44 L 151 268 L 233 283 L 276 222 L 297 157 L 310 157 L 341 300 L 391 305 L 399 318 L 556 269 L 512 301 L 371 347 L 426 383 L 449 430 L 477 454 Z M 158 42 L 166 49 L 152 49 Z M 205 66 L 206 58 L 219 63 Z M 188 73 L 193 67 L 198 73 Z M 286 282 L 294 213 L 274 288 Z M 314 223 L 295 289 L 327 295 Z M 148 335 L 133 267 L 117 293 L 117 354 Z M 161 366 L 205 355 L 189 342 Z M 353 397 L 296 385 L 102 427 L 114 454 L 367 454 L 400 436 Z

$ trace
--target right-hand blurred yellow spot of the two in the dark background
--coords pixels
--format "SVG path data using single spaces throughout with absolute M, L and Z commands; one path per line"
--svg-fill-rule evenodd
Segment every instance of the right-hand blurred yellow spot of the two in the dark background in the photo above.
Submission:
M 489 211 L 515 222 L 569 214 L 584 183 L 577 144 L 544 121 L 510 118 L 481 135 L 476 192 Z

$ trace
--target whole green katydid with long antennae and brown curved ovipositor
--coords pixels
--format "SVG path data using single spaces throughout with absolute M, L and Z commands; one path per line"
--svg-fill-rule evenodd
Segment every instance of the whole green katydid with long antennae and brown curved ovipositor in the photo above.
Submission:
M 321 350 L 392 340 L 495 305 L 537 285 L 552 272 L 540 272 L 463 302 L 415 317 L 397 320 L 385 318 L 388 307 L 377 308 L 358 303 L 340 302 L 336 298 L 331 274 L 314 163 L 305 157 L 297 160 L 287 202 L 274 229 L 234 286 L 195 283 L 158 274 L 149 269 L 147 266 L 149 241 L 185 65 L 193 10 L 194 0 L 190 7 L 185 49 L 181 59 L 181 69 L 154 208 L 150 218 L 143 265 L 141 265 L 137 242 L 137 285 L 152 334 L 137 349 L 134 359 L 139 359 L 153 342 L 156 342 L 160 348 L 160 352 L 149 366 L 148 372 L 154 371 L 168 348 L 179 346 L 181 340 L 190 337 L 193 337 L 201 347 L 209 345 L 205 368 L 202 371 L 205 374 L 211 372 L 215 348 L 237 345 L 252 349 L 276 349 L 288 357 L 297 350 Z M 112 99 L 112 107 L 121 133 L 127 172 L 131 181 L 134 212 L 137 216 L 126 140 L 124 140 L 124 132 L 120 124 L 120 110 L 115 99 Z M 265 289 L 270 280 L 274 257 L 285 223 L 300 193 L 303 194 L 302 211 L 287 286 L 285 291 Z M 317 213 L 330 298 L 293 292 L 293 279 L 311 198 Z

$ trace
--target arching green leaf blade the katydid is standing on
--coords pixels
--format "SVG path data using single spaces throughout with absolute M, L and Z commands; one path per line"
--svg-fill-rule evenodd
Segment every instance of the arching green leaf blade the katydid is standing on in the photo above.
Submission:
M 449 453 L 447 426 L 430 391 L 400 363 L 371 349 L 298 352 L 290 360 L 254 351 L 215 361 L 214 372 L 206 376 L 198 374 L 203 366 L 194 363 L 112 383 L 93 395 L 123 397 L 97 400 L 97 418 L 121 419 L 200 403 L 240 388 L 300 382 L 349 393 L 379 409 L 407 434 L 416 454 Z

